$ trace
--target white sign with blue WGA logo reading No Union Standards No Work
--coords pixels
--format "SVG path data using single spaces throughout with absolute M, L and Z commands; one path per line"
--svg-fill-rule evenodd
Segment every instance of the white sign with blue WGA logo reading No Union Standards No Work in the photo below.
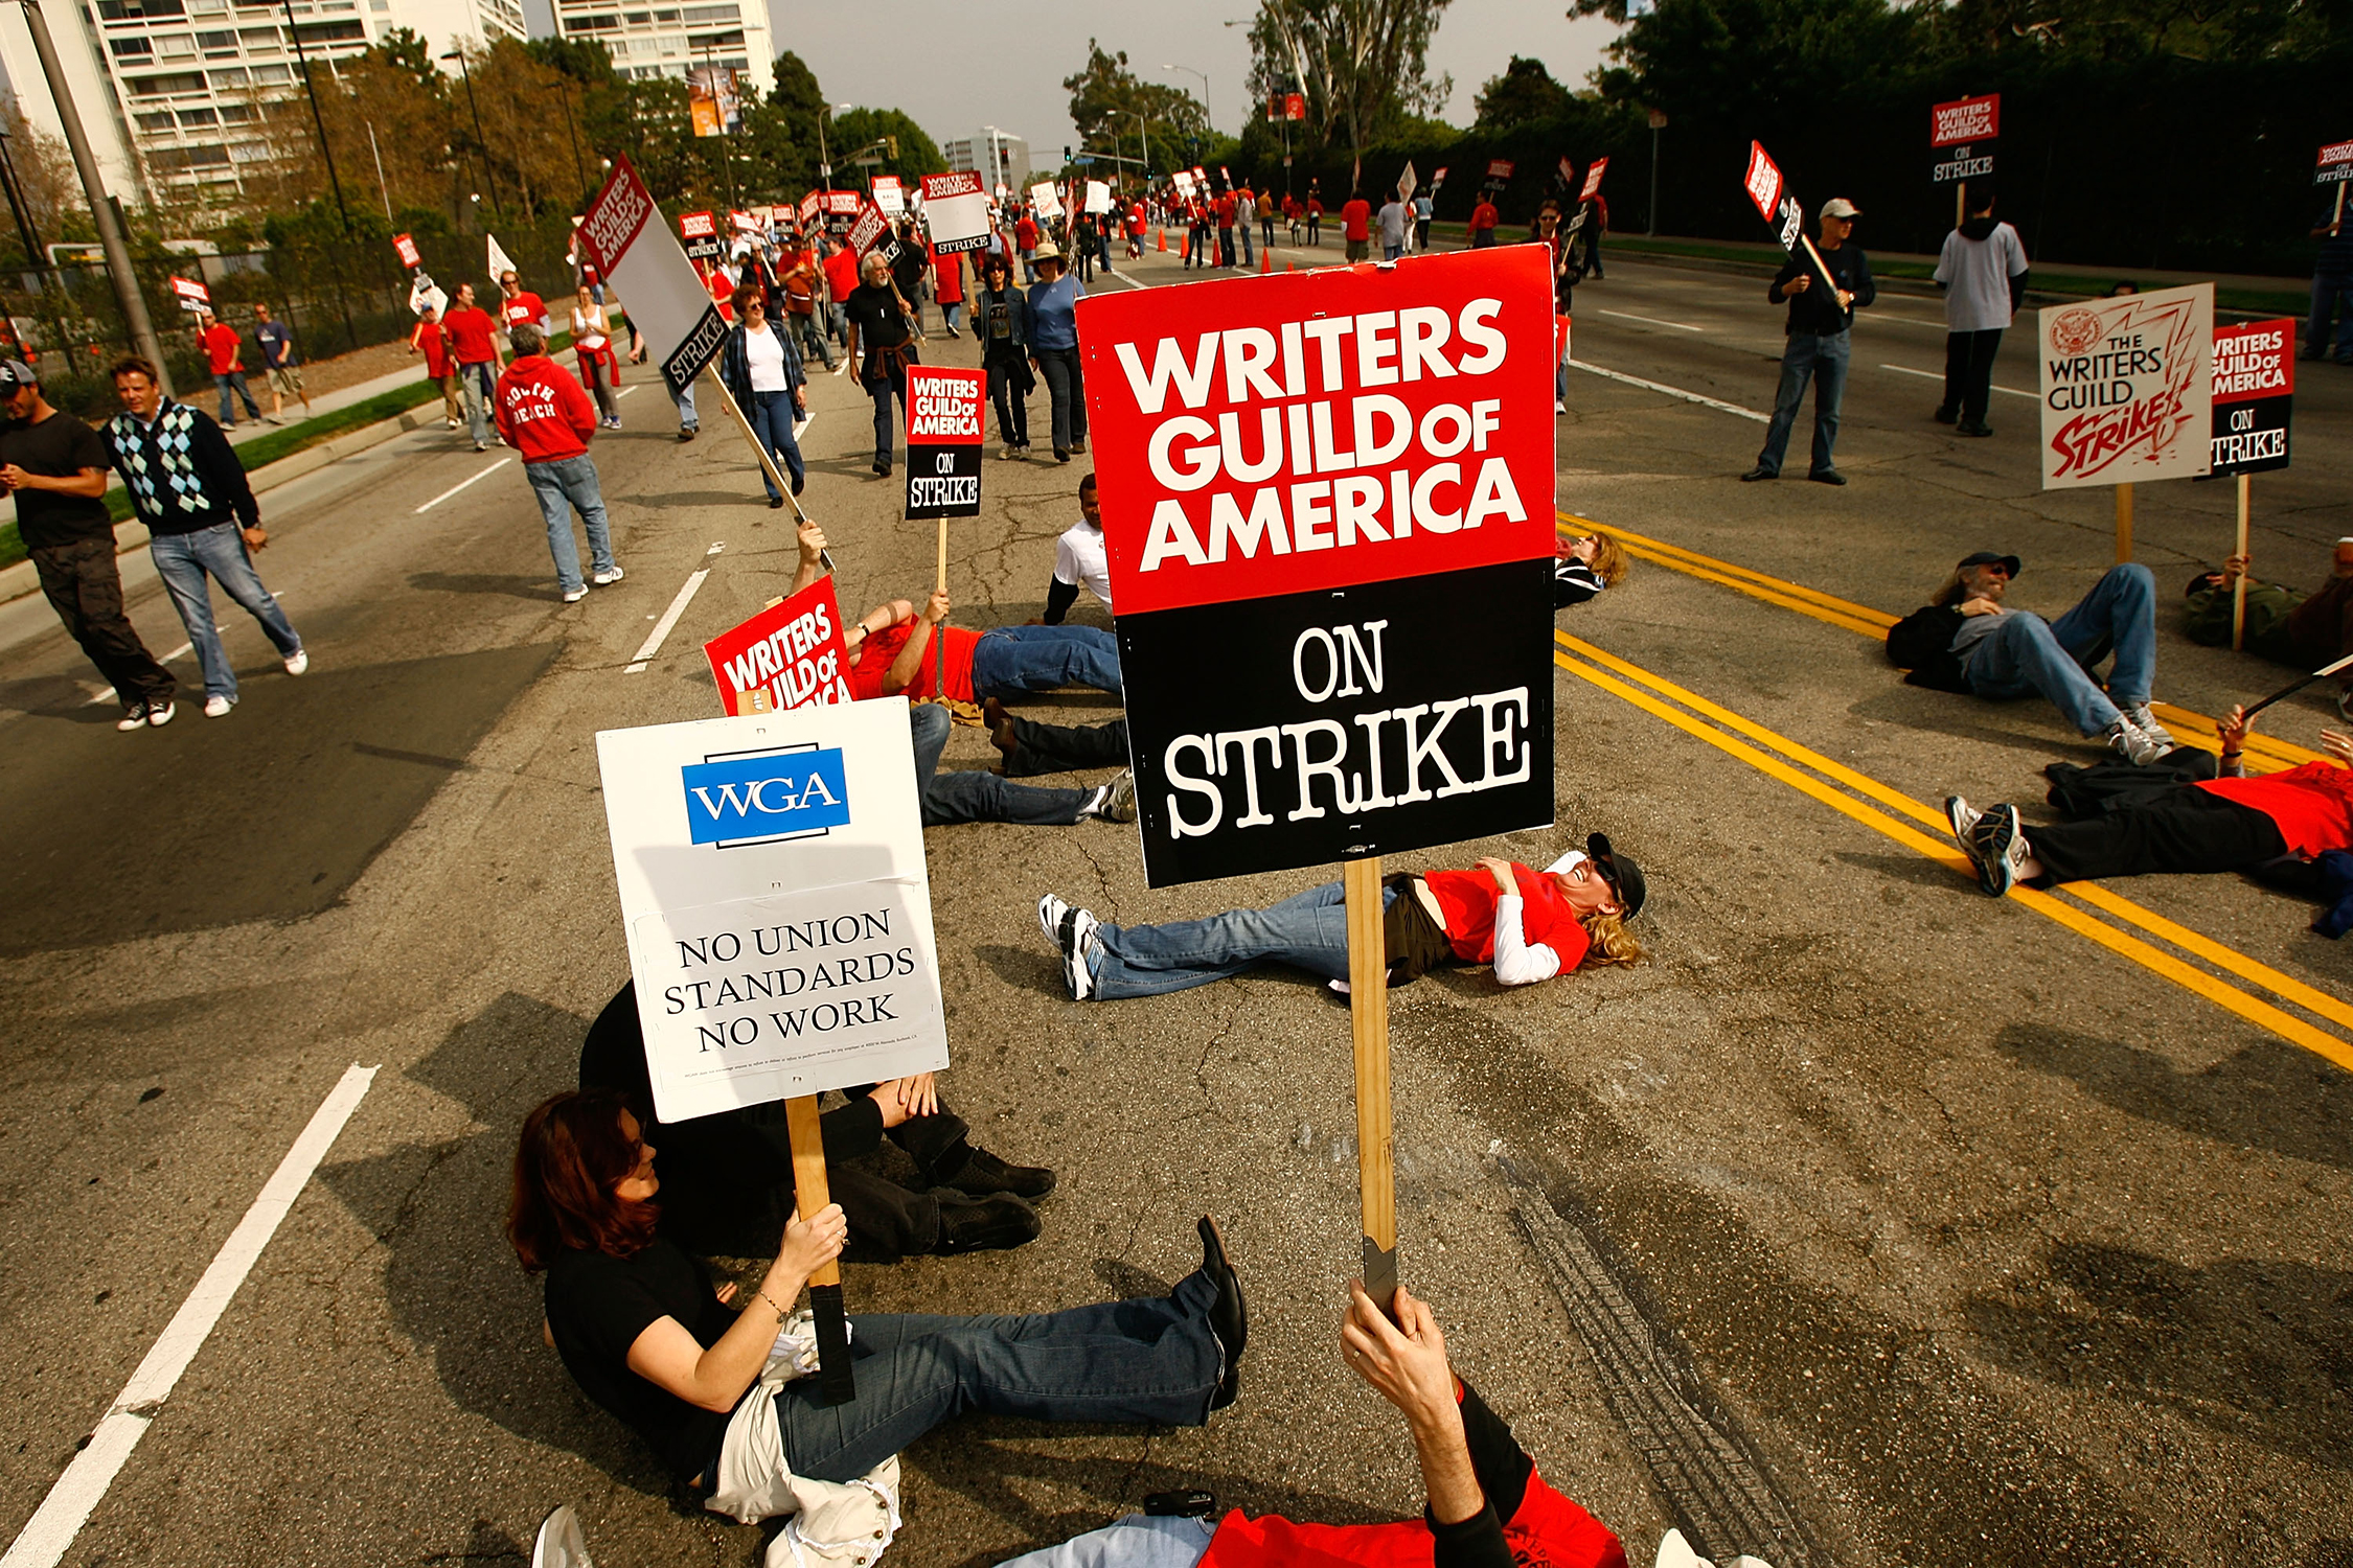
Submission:
M 654 1112 L 948 1065 L 906 703 L 607 729 Z

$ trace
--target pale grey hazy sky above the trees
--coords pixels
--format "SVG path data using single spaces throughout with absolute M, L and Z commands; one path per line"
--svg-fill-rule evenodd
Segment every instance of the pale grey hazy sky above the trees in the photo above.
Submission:
M 551 31 L 546 0 L 525 0 L 534 31 Z M 779 49 L 816 71 L 835 103 L 908 110 L 934 141 L 969 136 L 984 125 L 1026 136 L 1042 158 L 1073 141 L 1061 78 L 1087 63 L 1087 38 L 1127 49 L 1127 66 L 1148 82 L 1191 87 L 1209 75 L 1209 115 L 1221 132 L 1249 113 L 1247 19 L 1254 0 L 1028 0 L 998 7 L 972 0 L 854 0 L 769 5 Z M 1245 26 L 1221 26 L 1224 19 Z M 1602 63 L 1617 26 L 1602 16 L 1567 21 L 1565 0 L 1454 0 L 1431 42 L 1431 75 L 1454 75 L 1445 118 L 1471 125 L 1480 82 L 1513 54 L 1532 54 L 1562 82 L 1584 85 Z

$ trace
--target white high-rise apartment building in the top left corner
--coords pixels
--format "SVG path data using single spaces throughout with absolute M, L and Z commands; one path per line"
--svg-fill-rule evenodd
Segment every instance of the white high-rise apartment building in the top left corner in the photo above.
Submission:
M 242 167 L 268 158 L 249 129 L 254 96 L 299 92 L 296 35 L 313 68 L 395 28 L 435 54 L 527 38 L 520 0 L 47 0 L 42 16 L 106 188 L 127 205 L 235 188 Z M 33 129 L 61 134 L 14 5 L 0 5 L 0 68 Z

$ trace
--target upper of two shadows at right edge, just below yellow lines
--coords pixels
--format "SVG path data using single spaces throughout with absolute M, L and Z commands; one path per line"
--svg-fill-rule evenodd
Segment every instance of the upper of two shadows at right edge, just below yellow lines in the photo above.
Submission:
M 2353 1077 L 2282 1041 L 2264 1041 L 2202 1072 L 2113 1039 L 2009 1025 L 1993 1048 L 2035 1072 L 2073 1079 L 2127 1117 L 2198 1138 L 2353 1168 Z

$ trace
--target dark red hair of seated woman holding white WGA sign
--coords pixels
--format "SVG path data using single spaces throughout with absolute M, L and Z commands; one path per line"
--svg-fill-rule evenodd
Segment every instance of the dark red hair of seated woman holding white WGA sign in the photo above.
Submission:
M 621 1131 L 624 1110 L 628 1100 L 614 1088 L 574 1088 L 522 1119 L 506 1239 L 525 1274 L 565 1251 L 628 1258 L 654 1239 L 661 1211 L 614 1192 L 642 1147 Z

